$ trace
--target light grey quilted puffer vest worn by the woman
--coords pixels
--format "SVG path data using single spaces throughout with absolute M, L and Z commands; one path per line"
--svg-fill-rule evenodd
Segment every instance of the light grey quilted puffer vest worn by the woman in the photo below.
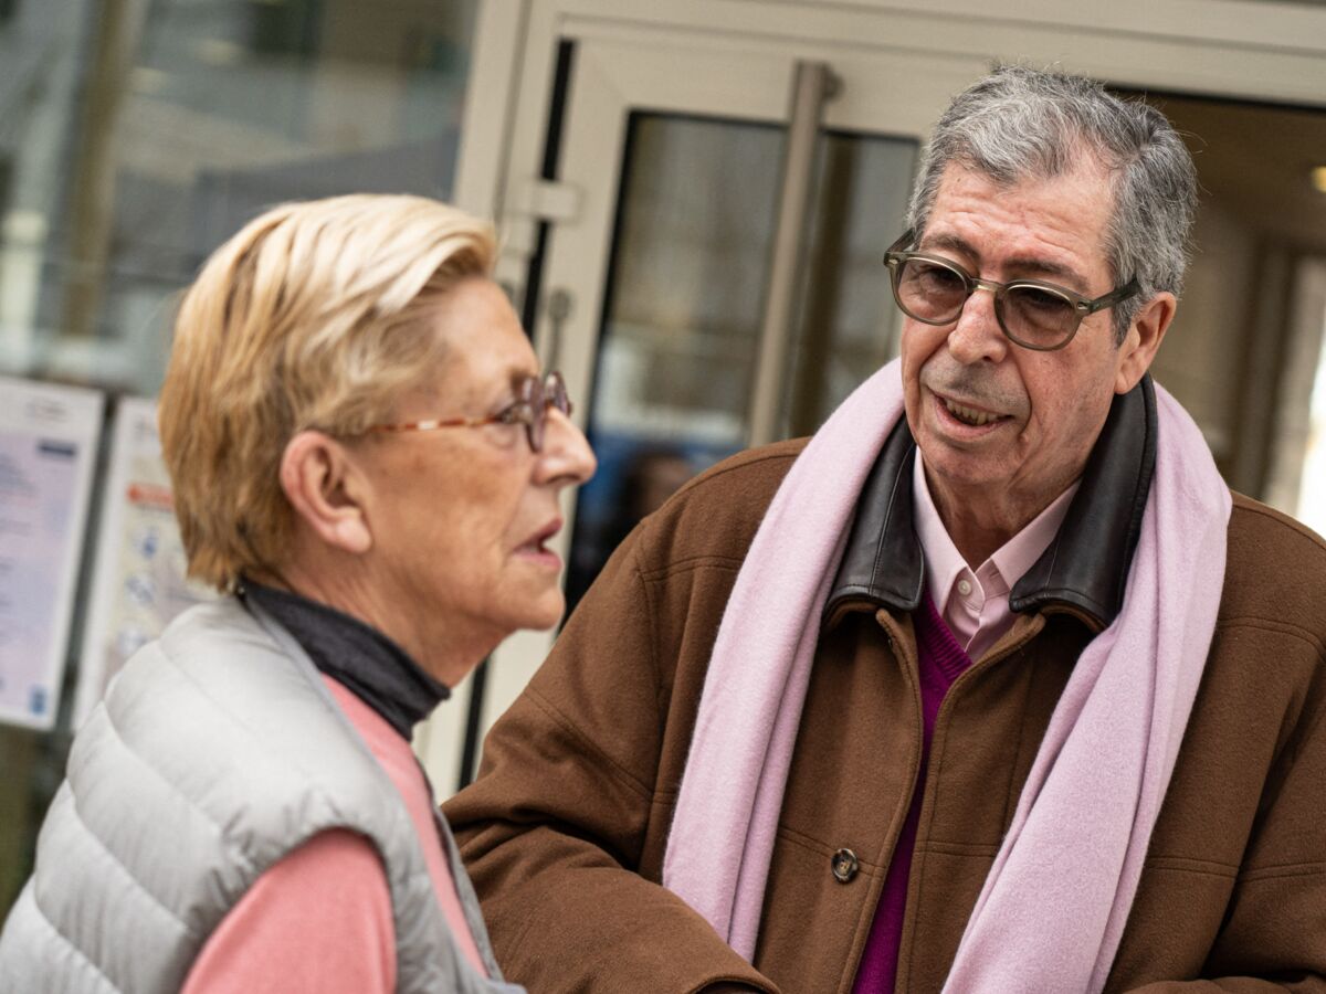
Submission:
M 235 599 L 191 608 L 134 655 L 74 740 L 0 934 L 0 993 L 178 991 L 263 871 L 328 828 L 361 832 L 383 856 L 398 991 L 518 994 L 469 967 L 403 799 L 294 639 Z

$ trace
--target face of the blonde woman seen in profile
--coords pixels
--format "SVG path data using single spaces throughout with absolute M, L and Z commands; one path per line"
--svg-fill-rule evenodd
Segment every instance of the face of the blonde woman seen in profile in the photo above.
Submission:
M 398 421 L 495 415 L 516 400 L 521 379 L 541 374 L 489 280 L 465 280 L 446 294 L 436 334 L 446 346 L 436 382 L 402 398 Z M 444 683 L 514 630 L 552 627 L 565 610 L 561 557 L 549 547 L 564 525 L 558 496 L 595 464 L 565 415 L 550 408 L 546 416 L 540 452 L 522 424 L 363 443 L 374 599 L 392 618 L 387 634 Z

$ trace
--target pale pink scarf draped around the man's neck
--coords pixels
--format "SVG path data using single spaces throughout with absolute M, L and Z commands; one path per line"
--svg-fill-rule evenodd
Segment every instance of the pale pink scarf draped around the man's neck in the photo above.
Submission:
M 945 991 L 1099 991 L 1114 962 L 1211 647 L 1231 510 L 1197 427 L 1155 392 L 1155 477 L 1123 610 L 1063 689 Z M 812 439 L 765 513 L 719 627 L 663 884 L 747 960 L 819 612 L 902 411 L 895 360 Z

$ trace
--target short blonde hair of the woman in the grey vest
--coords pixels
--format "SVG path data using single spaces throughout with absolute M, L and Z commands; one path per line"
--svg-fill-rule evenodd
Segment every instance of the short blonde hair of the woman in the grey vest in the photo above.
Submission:
M 491 227 L 453 207 L 354 195 L 273 208 L 208 258 L 158 415 L 191 577 L 225 591 L 282 561 L 286 443 L 390 420 L 442 360 L 438 300 L 495 254 Z

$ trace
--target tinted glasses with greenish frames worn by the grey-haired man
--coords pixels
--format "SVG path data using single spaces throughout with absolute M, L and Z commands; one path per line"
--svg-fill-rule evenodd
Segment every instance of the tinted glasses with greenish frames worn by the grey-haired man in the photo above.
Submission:
M 981 280 L 957 262 L 927 252 L 904 252 L 912 241 L 908 231 L 884 253 L 894 284 L 894 300 L 903 314 L 924 325 L 957 321 L 967 298 L 977 290 L 994 294 L 994 317 L 1005 337 L 1024 349 L 1050 353 L 1073 341 L 1082 318 L 1113 307 L 1138 292 L 1138 281 L 1094 300 L 1042 280 Z

